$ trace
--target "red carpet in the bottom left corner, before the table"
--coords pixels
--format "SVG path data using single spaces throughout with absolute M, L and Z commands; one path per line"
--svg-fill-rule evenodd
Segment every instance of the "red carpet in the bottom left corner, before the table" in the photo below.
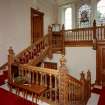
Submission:
M 0 88 L 0 105 L 37 105 Z

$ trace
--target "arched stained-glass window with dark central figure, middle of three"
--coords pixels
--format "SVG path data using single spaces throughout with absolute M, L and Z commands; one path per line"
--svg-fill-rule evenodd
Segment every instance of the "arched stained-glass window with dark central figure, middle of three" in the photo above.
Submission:
M 79 8 L 79 19 L 78 24 L 79 27 L 88 27 L 90 26 L 90 14 L 91 14 L 91 8 L 87 4 L 82 5 Z

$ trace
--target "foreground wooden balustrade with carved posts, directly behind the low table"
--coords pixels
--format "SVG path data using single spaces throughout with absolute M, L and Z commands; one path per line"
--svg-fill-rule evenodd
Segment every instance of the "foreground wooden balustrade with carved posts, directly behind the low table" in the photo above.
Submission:
M 61 66 L 57 70 L 35 67 L 28 62 L 20 63 L 17 62 L 18 57 L 10 48 L 8 55 L 9 81 L 14 81 L 21 76 L 27 77 L 30 83 L 46 86 L 47 91 L 40 99 L 51 105 L 86 105 L 91 95 L 90 72 L 87 73 L 87 78 L 82 72 L 81 79 L 77 80 L 68 74 L 64 57 L 60 59 Z

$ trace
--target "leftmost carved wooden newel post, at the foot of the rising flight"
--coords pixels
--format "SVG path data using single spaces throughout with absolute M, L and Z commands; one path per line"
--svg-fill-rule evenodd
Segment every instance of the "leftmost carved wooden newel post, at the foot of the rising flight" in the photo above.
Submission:
M 14 51 L 12 49 L 12 47 L 9 48 L 8 50 L 9 54 L 8 54 L 8 80 L 11 81 L 12 80 L 12 75 L 11 75 L 11 64 L 14 63 Z

